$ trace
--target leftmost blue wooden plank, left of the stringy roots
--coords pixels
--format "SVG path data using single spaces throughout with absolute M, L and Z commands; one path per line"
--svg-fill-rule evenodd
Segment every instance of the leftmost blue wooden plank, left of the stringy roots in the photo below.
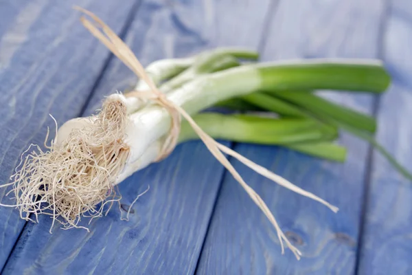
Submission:
M 26 1 L 12 9 L 1 5 L 0 37 L 0 183 L 7 183 L 20 155 L 30 143 L 43 144 L 49 113 L 61 124 L 79 115 L 109 52 L 80 25 L 73 5 L 97 12 L 119 32 L 135 0 Z M 17 11 L 17 12 L 16 12 Z M 12 19 L 14 18 L 14 19 Z M 9 22 L 12 19 L 12 22 Z M 3 20 L 5 25 L 2 24 Z M 9 22 L 9 23 L 7 23 Z M 81 47 L 78 47 L 81 45 Z M 0 201 L 13 203 L 0 189 Z M 25 221 L 12 208 L 0 208 L 0 269 L 8 258 Z

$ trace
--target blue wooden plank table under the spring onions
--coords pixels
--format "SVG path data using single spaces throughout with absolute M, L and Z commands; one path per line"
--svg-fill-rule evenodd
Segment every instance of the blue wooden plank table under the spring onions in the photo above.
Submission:
M 411 0 L 0 0 L 0 183 L 19 156 L 43 144 L 47 126 L 89 115 L 136 81 L 79 23 L 95 12 L 147 65 L 211 47 L 240 45 L 263 61 L 380 58 L 393 78 L 384 96 L 324 93 L 378 118 L 377 138 L 412 170 Z M 2 274 L 412 274 L 412 184 L 369 144 L 350 135 L 345 164 L 277 146 L 227 145 L 338 206 L 280 188 L 240 166 L 289 239 L 275 230 L 201 142 L 188 142 L 120 184 L 117 210 L 85 230 L 26 223 L 0 208 Z M 193 153 L 196 152 L 196 153 Z M 0 189 L 0 201 L 8 202 Z M 127 209 L 127 208 L 126 208 Z M 85 221 L 86 222 L 86 221 Z

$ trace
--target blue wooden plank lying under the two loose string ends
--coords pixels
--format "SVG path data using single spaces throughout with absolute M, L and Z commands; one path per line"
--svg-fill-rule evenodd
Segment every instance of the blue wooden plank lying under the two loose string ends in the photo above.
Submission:
M 265 60 L 377 56 L 383 1 L 279 3 L 266 34 Z M 370 112 L 371 97 L 325 94 L 341 104 Z M 342 135 L 350 148 L 345 164 L 334 164 L 275 146 L 239 144 L 236 150 L 294 184 L 340 208 L 325 206 L 280 188 L 235 162 L 262 196 L 281 228 L 301 250 L 297 261 L 282 255 L 275 230 L 246 192 L 225 177 L 198 265 L 198 274 L 352 274 L 367 163 L 367 144 Z

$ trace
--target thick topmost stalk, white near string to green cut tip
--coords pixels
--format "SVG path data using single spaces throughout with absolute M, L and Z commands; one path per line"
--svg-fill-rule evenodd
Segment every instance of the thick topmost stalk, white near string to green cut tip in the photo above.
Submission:
M 319 68 L 325 69 L 324 67 L 329 69 L 319 74 Z M 355 74 L 352 74 L 348 67 L 352 67 Z M 359 79 L 356 74 L 361 74 L 361 72 L 365 77 Z M 339 76 L 335 75 L 340 73 Z M 242 65 L 225 69 L 222 72 L 198 76 L 185 83 L 181 87 L 182 91 L 180 88 L 174 89 L 172 94 L 179 94 L 179 97 L 183 96 L 181 95 L 183 92 L 190 94 L 190 96 L 182 98 L 183 101 L 186 101 L 185 103 L 182 100 L 179 101 L 190 113 L 198 113 L 222 100 L 258 91 L 272 91 L 277 88 L 296 90 L 299 87 L 308 89 L 317 87 L 351 89 L 356 87 L 357 90 L 363 91 L 383 91 L 387 87 L 387 82 L 371 79 L 382 79 L 386 76 L 385 69 L 373 62 L 363 65 L 348 65 L 346 62 L 334 61 L 334 63 L 330 63 L 330 61 L 320 59 L 301 61 L 301 63 L 260 63 Z M 312 80 L 307 83 L 308 77 L 314 78 L 316 82 Z M 331 82 L 330 79 L 334 81 Z

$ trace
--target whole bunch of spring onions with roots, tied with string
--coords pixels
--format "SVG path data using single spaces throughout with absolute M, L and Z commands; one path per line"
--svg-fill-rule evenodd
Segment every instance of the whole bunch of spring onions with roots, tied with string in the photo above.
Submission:
M 334 143 L 339 129 L 373 140 L 376 122 L 314 91 L 381 93 L 390 82 L 382 64 L 322 58 L 258 63 L 257 52 L 218 48 L 155 61 L 143 69 L 110 28 L 91 12 L 82 12 L 103 32 L 82 18 L 84 26 L 139 76 L 139 82 L 129 93 L 107 96 L 97 114 L 62 124 L 47 151 L 36 146 L 22 158 L 11 182 L 3 185 L 12 186 L 9 193 L 16 203 L 1 205 L 19 208 L 22 219 L 38 221 L 38 214 L 48 214 L 65 228 L 80 228 L 82 217 L 101 217 L 122 198 L 117 184 L 167 157 L 176 144 L 201 138 L 271 221 L 282 252 L 284 241 L 299 259 L 299 250 L 264 201 L 223 153 L 334 212 L 337 208 L 214 139 L 274 144 L 343 162 L 346 149 Z M 209 111 L 211 107 L 235 112 Z

